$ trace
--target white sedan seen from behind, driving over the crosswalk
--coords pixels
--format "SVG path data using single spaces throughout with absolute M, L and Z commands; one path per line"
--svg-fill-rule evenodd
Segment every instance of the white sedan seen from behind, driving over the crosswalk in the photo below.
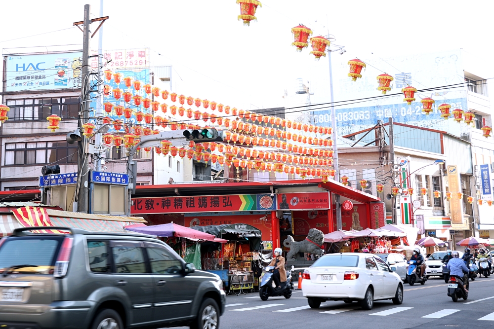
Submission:
M 400 276 L 372 254 L 324 255 L 303 272 L 302 279 L 302 294 L 311 308 L 326 300 L 357 301 L 365 310 L 372 309 L 374 300 L 403 302 Z

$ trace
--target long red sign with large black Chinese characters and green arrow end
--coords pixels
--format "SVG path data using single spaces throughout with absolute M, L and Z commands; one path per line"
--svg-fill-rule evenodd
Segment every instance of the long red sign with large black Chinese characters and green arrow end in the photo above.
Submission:
M 269 194 L 176 196 L 132 199 L 131 214 L 200 213 L 275 210 L 263 197 Z M 262 201 L 262 205 L 260 204 Z M 268 208 L 264 208 L 268 207 Z

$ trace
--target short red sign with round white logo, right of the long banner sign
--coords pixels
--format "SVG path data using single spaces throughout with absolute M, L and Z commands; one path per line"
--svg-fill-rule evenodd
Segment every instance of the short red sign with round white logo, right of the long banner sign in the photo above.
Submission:
M 329 192 L 280 193 L 277 206 L 278 210 L 330 209 Z

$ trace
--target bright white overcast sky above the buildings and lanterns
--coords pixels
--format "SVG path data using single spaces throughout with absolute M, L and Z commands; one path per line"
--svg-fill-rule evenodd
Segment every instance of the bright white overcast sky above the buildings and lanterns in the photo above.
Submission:
M 177 92 L 239 109 L 284 106 L 284 89 L 292 91 L 298 77 L 310 80 L 312 103 L 329 100 L 327 58 L 316 62 L 310 46 L 298 53 L 290 45 L 290 29 L 299 23 L 313 36 L 329 30 L 335 43 L 345 46 L 344 55 L 333 53 L 334 65 L 355 57 L 457 48 L 478 56 L 486 67 L 493 65 L 492 1 L 261 2 L 258 21 L 245 27 L 237 20 L 235 0 L 105 0 L 104 15 L 110 20 L 104 24 L 103 48 L 150 47 L 152 65 L 172 65 L 173 77 L 182 79 Z M 2 1 L 0 47 L 82 43 L 75 27 L 4 40 L 70 28 L 82 20 L 85 3 L 98 17 L 99 0 Z M 97 37 L 92 47 L 97 49 Z

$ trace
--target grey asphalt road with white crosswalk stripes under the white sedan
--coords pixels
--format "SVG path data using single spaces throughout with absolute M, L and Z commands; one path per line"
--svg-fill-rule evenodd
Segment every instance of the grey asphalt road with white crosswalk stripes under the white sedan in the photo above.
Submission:
M 226 306 L 221 329 L 494 328 L 494 278 L 470 282 L 468 300 L 456 303 L 448 297 L 444 281 L 431 278 L 423 286 L 405 284 L 402 305 L 376 301 L 371 311 L 342 301 L 327 301 L 311 309 L 297 290 L 289 299 L 282 296 L 267 301 L 260 300 L 258 293 L 229 295 Z

